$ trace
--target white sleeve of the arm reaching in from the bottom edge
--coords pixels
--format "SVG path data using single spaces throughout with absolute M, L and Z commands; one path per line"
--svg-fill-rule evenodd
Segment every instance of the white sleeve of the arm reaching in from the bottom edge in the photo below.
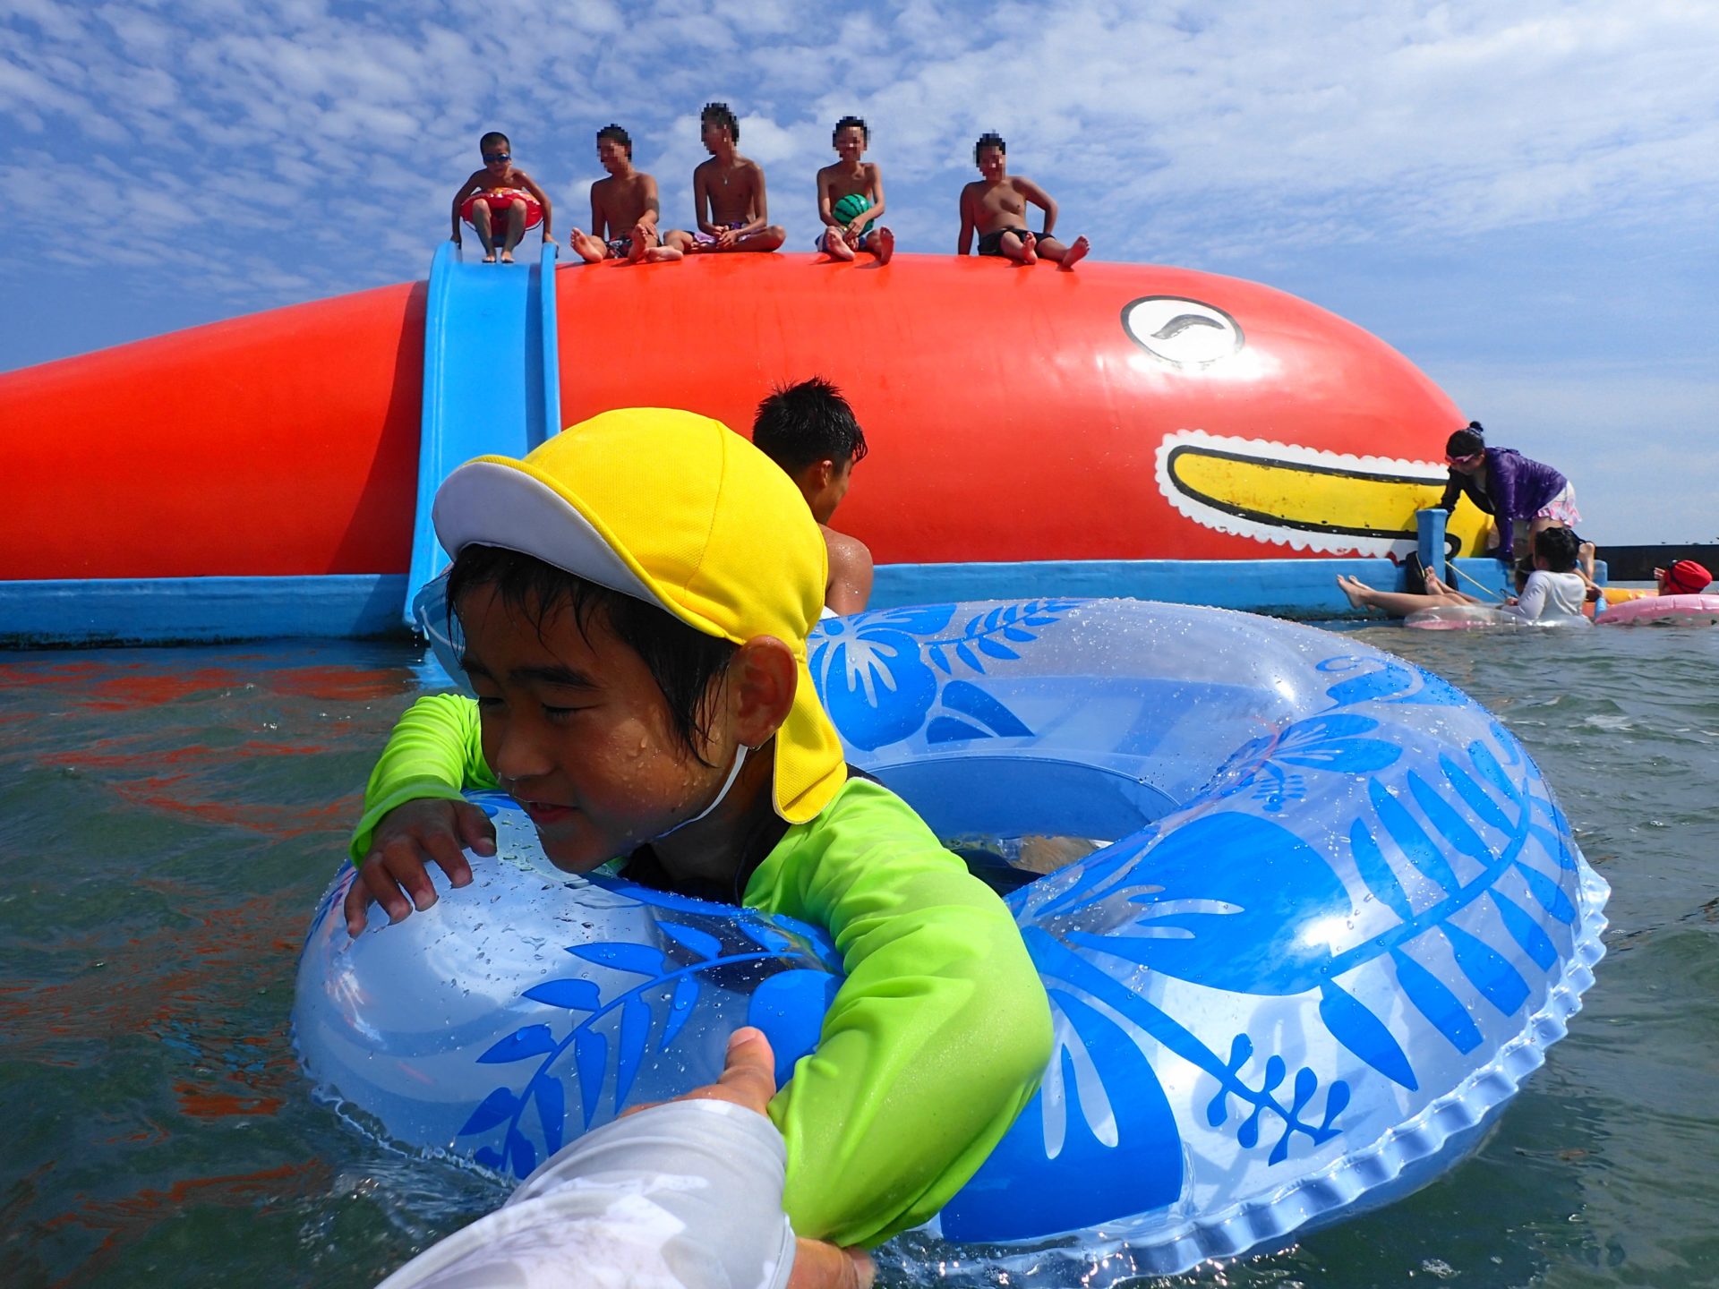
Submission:
M 784 1289 L 782 1136 L 727 1102 L 669 1102 L 559 1150 L 507 1203 L 378 1289 Z

